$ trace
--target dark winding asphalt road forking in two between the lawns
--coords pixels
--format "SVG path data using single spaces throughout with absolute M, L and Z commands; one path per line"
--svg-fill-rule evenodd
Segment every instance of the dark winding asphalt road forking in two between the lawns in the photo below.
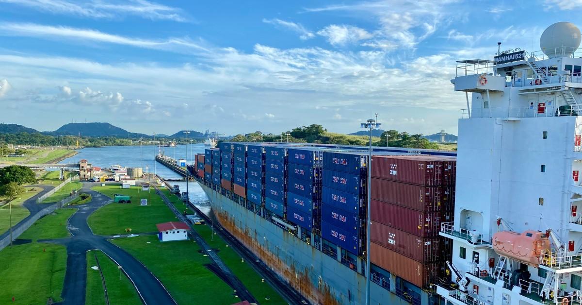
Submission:
M 67 269 L 65 286 L 63 288 L 62 304 L 84 304 L 87 288 L 88 250 L 101 250 L 123 267 L 123 271 L 133 281 L 142 300 L 146 304 L 176 304 L 169 292 L 151 272 L 132 255 L 122 248 L 109 243 L 107 237 L 97 236 L 87 225 L 87 218 L 98 208 L 109 204 L 111 199 L 98 192 L 91 191 L 91 184 L 84 184 L 81 192 L 91 194 L 90 203 L 74 206 L 79 211 L 69 218 L 68 229 L 72 237 L 68 239 L 44 240 L 44 242 L 60 243 L 67 247 Z

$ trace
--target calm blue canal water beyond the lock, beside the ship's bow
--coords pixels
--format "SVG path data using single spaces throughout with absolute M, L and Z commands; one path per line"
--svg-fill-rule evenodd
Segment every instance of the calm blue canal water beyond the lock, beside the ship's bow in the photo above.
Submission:
M 175 147 L 162 147 L 163 153 L 173 159 L 186 159 L 188 154 L 188 164 L 194 164 L 194 157 L 197 153 L 204 153 L 204 144 L 177 145 Z M 155 155 L 159 152 L 158 147 L 153 145 L 143 146 L 108 146 L 102 148 L 83 148 L 77 155 L 63 160 L 61 163 L 77 163 L 81 159 L 86 159 L 93 166 L 110 167 L 115 164 L 126 167 L 142 167 L 144 173 L 156 173 L 162 178 L 181 178 L 161 163 L 155 162 Z M 180 191 L 186 191 L 186 182 L 173 181 L 171 184 L 180 185 Z M 202 212 L 210 212 L 210 202 L 208 197 L 197 182 L 188 183 L 190 202 L 198 206 Z

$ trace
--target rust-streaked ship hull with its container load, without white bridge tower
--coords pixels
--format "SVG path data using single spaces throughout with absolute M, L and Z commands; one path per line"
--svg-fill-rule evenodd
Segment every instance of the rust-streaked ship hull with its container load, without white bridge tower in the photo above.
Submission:
M 191 171 L 222 227 L 313 304 L 439 304 L 456 152 L 219 142 Z M 370 272 L 366 272 L 371 171 Z M 388 192 L 386 192 L 388 190 Z

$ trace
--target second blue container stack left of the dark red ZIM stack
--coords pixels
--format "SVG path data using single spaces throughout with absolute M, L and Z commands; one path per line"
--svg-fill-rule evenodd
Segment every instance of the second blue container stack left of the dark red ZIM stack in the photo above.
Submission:
M 321 168 L 324 149 L 289 148 L 287 218 L 310 232 L 321 232 Z

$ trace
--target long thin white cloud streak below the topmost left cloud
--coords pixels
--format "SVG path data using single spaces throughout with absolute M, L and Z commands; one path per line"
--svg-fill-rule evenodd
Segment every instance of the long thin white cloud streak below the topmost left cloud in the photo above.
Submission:
M 0 23 L 0 35 L 27 36 L 46 39 L 90 40 L 102 43 L 131 45 L 132 47 L 151 48 L 177 52 L 208 51 L 206 47 L 188 38 L 168 38 L 166 40 L 148 40 L 118 36 L 97 30 L 78 29 L 65 26 L 45 26 L 34 23 Z

